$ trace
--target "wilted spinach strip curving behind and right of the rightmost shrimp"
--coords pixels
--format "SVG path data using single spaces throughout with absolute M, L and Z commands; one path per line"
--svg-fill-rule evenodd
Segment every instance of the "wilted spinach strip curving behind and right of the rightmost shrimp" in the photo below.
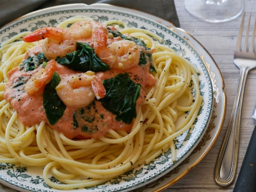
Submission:
M 119 31 L 111 31 L 109 28 L 108 28 L 108 32 L 112 33 L 113 37 L 121 37 L 122 39 L 133 41 L 133 42 L 135 42 L 137 44 L 137 46 L 141 46 L 141 47 L 145 48 L 146 51 L 150 50 L 150 48 L 148 48 L 147 45 L 145 44 L 145 42 L 142 41 L 141 39 L 138 39 L 136 37 L 125 36 L 122 33 L 120 33 Z M 156 69 L 152 65 L 152 54 L 145 53 L 145 52 L 141 51 L 141 54 L 139 56 L 139 65 L 141 66 L 141 65 L 147 64 L 147 59 L 149 59 L 149 61 L 150 61 L 150 69 L 149 69 L 149 71 L 150 72 L 156 72 Z

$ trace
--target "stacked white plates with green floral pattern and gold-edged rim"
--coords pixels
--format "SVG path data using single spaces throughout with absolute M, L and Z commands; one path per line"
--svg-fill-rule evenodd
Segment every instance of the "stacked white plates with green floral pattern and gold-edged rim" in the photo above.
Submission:
M 221 114 L 221 124 L 219 125 L 218 122 L 219 126 L 215 126 L 211 130 L 209 129 L 212 121 L 216 119 L 210 118 L 212 110 L 217 108 L 216 103 L 220 103 L 220 101 L 225 103 L 225 99 L 223 98 L 225 95 L 223 92 L 223 86 L 220 87 L 220 85 L 223 85 L 223 82 L 218 82 L 217 84 L 214 82 L 215 79 L 211 75 L 213 72 L 216 73 L 217 76 L 221 76 L 217 65 L 215 65 L 213 59 L 210 57 L 210 54 L 204 53 L 205 56 L 199 55 L 198 50 L 196 50 L 195 47 L 189 41 L 187 41 L 188 38 L 185 36 L 185 32 L 181 29 L 176 29 L 174 27 L 171 29 L 167 28 L 165 25 L 157 22 L 160 18 L 157 20 L 154 16 L 147 17 L 148 14 L 139 11 L 104 4 L 93 4 L 92 6 L 87 6 L 85 4 L 72 4 L 35 11 L 2 28 L 0 30 L 0 41 L 6 41 L 21 31 L 33 31 L 46 26 L 56 26 L 59 22 L 75 15 L 86 15 L 98 22 L 118 18 L 119 20 L 126 22 L 126 24 L 130 27 L 145 28 L 161 36 L 164 40 L 164 44 L 167 44 L 176 50 L 177 54 L 189 59 L 191 63 L 199 68 L 201 73 L 199 76 L 200 91 L 204 97 L 204 104 L 200 109 L 195 126 L 189 128 L 184 134 L 175 139 L 177 161 L 171 161 L 170 151 L 168 150 L 149 164 L 144 164 L 143 166 L 127 172 L 120 177 L 112 179 L 108 183 L 86 188 L 87 191 L 143 191 L 145 189 L 148 191 L 149 189 L 155 190 L 154 188 L 159 188 L 159 190 L 161 190 L 175 183 L 175 181 L 184 176 L 188 170 L 191 169 L 191 167 L 195 166 L 197 161 L 200 161 L 205 156 L 205 154 L 202 155 L 202 153 L 200 153 L 199 157 L 198 155 L 194 156 L 194 159 L 191 161 L 192 164 L 187 162 L 187 159 L 190 159 L 190 157 L 196 153 L 197 150 L 195 151 L 195 148 L 198 146 L 200 140 L 204 140 L 204 133 L 211 134 L 213 137 L 208 143 L 208 148 L 204 150 L 204 153 L 207 153 L 217 138 L 219 129 L 223 123 L 222 114 L 224 114 L 224 112 L 217 113 L 218 115 Z M 163 20 L 163 22 L 165 21 Z M 198 46 L 198 49 L 199 48 L 200 50 L 202 49 L 201 51 L 203 52 L 204 49 L 202 46 Z M 206 61 L 209 63 L 206 63 Z M 218 92 L 221 92 L 221 94 L 223 93 L 221 95 L 222 97 L 219 96 L 220 94 L 217 95 Z M 213 97 L 215 98 L 215 103 L 213 103 Z M 219 111 L 225 111 L 225 104 L 223 105 L 224 109 L 223 107 L 220 108 L 220 105 L 218 106 Z M 192 152 L 193 154 L 189 156 Z M 186 166 L 186 164 L 189 166 Z M 173 172 L 174 170 L 178 171 Z M 163 175 L 165 175 L 165 177 L 162 177 Z M 168 180 L 172 182 L 170 183 L 165 179 L 161 179 L 166 177 L 168 177 Z M 158 183 L 159 181 L 161 181 L 160 185 Z M 0 182 L 20 191 L 65 191 L 56 190 L 47 186 L 43 181 L 41 167 L 31 168 L 14 164 L 0 163 Z M 77 189 L 76 191 L 84 191 L 84 189 Z

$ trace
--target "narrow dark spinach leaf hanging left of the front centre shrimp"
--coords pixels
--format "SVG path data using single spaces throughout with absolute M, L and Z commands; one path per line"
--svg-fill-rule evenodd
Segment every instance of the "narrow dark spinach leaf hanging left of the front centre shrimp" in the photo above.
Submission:
M 51 125 L 54 125 L 63 116 L 66 109 L 66 105 L 60 100 L 55 89 L 60 80 L 58 73 L 54 72 L 51 81 L 43 91 L 43 105 L 46 117 Z

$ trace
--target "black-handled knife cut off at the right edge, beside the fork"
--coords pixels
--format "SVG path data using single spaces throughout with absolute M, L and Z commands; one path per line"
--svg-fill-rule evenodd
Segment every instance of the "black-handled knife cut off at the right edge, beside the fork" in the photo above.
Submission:
M 256 108 L 252 118 L 256 120 Z M 252 132 L 233 192 L 256 192 L 256 126 Z

